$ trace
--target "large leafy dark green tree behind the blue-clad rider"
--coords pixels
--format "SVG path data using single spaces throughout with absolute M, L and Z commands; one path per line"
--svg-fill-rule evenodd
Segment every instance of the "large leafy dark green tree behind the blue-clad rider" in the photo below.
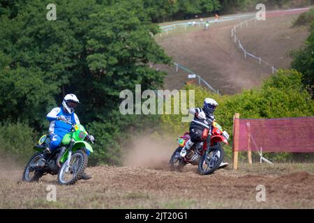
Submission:
M 86 122 L 104 119 L 117 109 L 120 91 L 163 84 L 165 73 L 149 64 L 170 58 L 154 41 L 159 29 L 142 1 L 103 4 L 56 1 L 57 21 L 48 21 L 47 3 L 35 0 L 14 20 L 1 17 L 0 121 L 24 115 L 38 128 L 37 117 L 68 92 L 81 99 L 77 112 L 88 114 Z

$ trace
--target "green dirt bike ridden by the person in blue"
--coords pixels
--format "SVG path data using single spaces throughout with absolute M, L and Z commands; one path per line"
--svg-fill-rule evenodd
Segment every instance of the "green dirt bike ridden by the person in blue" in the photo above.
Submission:
M 43 135 L 38 141 L 38 145 L 33 148 L 35 153 L 24 169 L 22 180 L 27 182 L 38 181 L 45 174 L 58 174 L 60 185 L 73 185 L 80 180 L 88 163 L 89 153 L 93 153 L 93 148 L 87 141 L 91 141 L 88 132 L 83 125 L 73 125 L 61 142 L 61 147 L 52 151 L 43 162 L 43 153 L 50 143 L 50 137 Z M 94 141 L 91 141 L 94 143 Z

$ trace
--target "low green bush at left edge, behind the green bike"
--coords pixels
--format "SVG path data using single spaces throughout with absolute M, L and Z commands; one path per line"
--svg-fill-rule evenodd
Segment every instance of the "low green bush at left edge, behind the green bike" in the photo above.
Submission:
M 0 152 L 13 155 L 17 162 L 26 164 L 35 153 L 33 146 L 39 137 L 27 123 L 0 123 Z

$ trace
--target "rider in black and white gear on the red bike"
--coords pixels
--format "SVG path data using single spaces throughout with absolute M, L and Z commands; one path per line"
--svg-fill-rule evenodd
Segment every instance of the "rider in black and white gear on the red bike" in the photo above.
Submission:
M 202 108 L 191 108 L 188 110 L 190 114 L 194 115 L 193 121 L 190 123 L 190 139 L 186 141 L 184 148 L 182 148 L 180 155 L 185 157 L 188 150 L 195 144 L 197 150 L 202 148 L 203 132 L 211 130 L 211 125 L 215 121 L 214 112 L 218 103 L 212 98 L 205 98 Z M 211 134 L 211 132 L 209 132 Z M 227 134 L 227 132 L 223 132 Z M 221 163 L 221 167 L 227 167 L 228 163 Z

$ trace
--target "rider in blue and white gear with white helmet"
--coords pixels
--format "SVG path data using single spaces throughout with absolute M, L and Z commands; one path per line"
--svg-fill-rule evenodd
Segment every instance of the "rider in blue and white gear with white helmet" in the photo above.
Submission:
M 47 114 L 47 120 L 50 121 L 50 144 L 43 153 L 44 162 L 52 151 L 60 147 L 64 135 L 70 132 L 71 125 L 65 123 L 65 121 L 80 124 L 79 118 L 74 113 L 74 109 L 78 104 L 79 100 L 77 97 L 73 93 L 70 93 L 64 97 L 61 107 L 55 107 Z M 89 140 L 94 141 L 94 136 L 89 135 Z M 82 179 L 88 180 L 89 178 L 91 178 L 91 176 L 88 174 L 82 174 Z

